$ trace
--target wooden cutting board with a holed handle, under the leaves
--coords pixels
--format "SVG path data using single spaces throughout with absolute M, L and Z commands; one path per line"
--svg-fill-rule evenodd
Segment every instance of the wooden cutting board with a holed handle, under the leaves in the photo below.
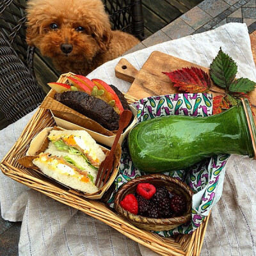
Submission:
M 209 68 L 158 51 L 150 54 L 141 70 L 137 70 L 129 61 L 122 58 L 115 67 L 115 74 L 116 77 L 132 83 L 127 92 L 129 95 L 142 99 L 153 95 L 179 93 L 180 91 L 173 86 L 170 78 L 162 72 L 171 72 L 184 67 L 202 68 L 209 74 Z M 212 84 L 210 93 L 216 96 L 225 94 L 225 91 Z M 251 92 L 249 96 L 253 111 L 256 113 L 256 90 Z

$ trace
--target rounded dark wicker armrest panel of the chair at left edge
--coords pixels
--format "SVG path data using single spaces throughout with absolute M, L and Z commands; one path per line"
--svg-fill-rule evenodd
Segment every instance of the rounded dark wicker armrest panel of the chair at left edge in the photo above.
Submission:
M 15 122 L 38 107 L 45 93 L 1 33 L 0 56 L 0 109 Z

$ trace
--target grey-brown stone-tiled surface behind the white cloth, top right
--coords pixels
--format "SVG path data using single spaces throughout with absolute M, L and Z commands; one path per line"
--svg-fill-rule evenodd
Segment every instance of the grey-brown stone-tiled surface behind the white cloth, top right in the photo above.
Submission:
M 229 22 L 246 23 L 256 30 L 256 0 L 205 0 L 125 54 L 184 36 L 202 33 Z

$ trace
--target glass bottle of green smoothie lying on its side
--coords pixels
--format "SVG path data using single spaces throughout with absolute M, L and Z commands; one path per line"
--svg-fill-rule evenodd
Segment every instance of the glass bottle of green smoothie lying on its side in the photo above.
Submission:
M 171 115 L 134 126 L 128 143 L 132 162 L 143 172 L 182 170 L 205 157 L 255 157 L 255 124 L 247 99 L 212 116 Z

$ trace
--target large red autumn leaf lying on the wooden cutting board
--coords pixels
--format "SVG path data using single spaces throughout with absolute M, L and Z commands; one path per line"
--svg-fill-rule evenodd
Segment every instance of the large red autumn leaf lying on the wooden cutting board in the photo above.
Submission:
M 201 68 L 182 68 L 173 72 L 163 72 L 173 82 L 173 86 L 188 93 L 206 92 L 211 86 L 211 80 Z

